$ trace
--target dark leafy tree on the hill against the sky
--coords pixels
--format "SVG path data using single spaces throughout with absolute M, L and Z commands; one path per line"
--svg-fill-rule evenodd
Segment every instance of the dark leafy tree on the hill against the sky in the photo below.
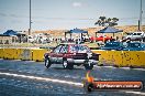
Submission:
M 118 25 L 119 19 L 118 18 L 105 18 L 105 17 L 100 17 L 99 20 L 94 23 L 94 25 L 99 25 L 99 26 L 114 26 Z

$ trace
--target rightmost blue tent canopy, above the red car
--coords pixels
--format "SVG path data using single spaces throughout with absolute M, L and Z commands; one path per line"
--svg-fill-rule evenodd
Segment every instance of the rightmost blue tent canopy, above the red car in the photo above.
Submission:
M 100 31 L 98 31 L 98 33 L 118 33 L 118 32 L 123 32 L 123 30 L 119 30 L 112 26 L 107 26 Z

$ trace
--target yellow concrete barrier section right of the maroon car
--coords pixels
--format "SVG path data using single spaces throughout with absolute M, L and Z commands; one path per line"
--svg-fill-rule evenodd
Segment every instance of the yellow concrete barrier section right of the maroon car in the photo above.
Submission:
M 93 51 L 100 53 L 100 64 L 119 67 L 145 67 L 145 51 Z

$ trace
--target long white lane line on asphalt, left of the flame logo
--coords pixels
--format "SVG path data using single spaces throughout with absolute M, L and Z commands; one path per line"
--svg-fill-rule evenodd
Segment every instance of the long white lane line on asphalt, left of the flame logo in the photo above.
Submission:
M 0 72 L 0 75 L 30 78 L 30 79 L 38 79 L 38 81 L 46 81 L 46 82 L 60 83 L 60 84 L 68 84 L 68 85 L 75 85 L 75 86 L 79 86 L 79 87 L 83 86 L 82 83 L 75 83 L 75 82 L 69 82 L 69 81 L 53 79 L 53 78 L 38 77 L 38 76 L 27 76 L 27 75 L 20 75 L 20 74 L 12 74 L 12 73 L 1 73 L 1 72 Z

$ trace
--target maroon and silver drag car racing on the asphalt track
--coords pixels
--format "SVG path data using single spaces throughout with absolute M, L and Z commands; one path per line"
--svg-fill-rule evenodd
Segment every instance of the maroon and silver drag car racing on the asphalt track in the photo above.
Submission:
M 92 70 L 98 63 L 99 55 L 92 53 L 86 45 L 59 44 L 51 53 L 45 53 L 45 66 L 63 64 L 64 68 L 72 70 L 74 65 L 83 65 L 86 70 Z

